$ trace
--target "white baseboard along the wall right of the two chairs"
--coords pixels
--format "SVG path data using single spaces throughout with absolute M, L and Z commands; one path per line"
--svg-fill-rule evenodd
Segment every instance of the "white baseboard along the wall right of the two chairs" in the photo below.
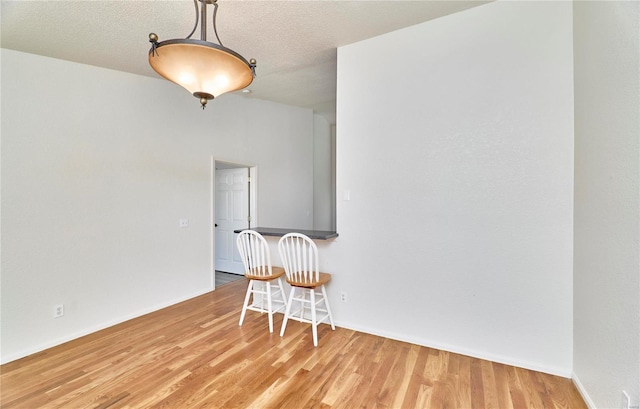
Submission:
M 440 343 L 440 342 L 435 342 L 433 340 L 425 340 L 425 339 L 417 339 L 417 338 L 411 338 L 411 337 L 406 337 L 406 336 L 400 336 L 400 335 L 394 334 L 394 333 L 389 333 L 389 332 L 385 332 L 385 331 L 379 331 L 379 330 L 376 330 L 376 329 L 373 329 L 373 328 L 368 328 L 368 327 L 353 326 L 353 325 L 345 324 L 343 322 L 338 322 L 338 321 L 336 321 L 335 324 L 336 324 L 336 326 L 339 326 L 339 327 L 342 327 L 342 328 L 351 329 L 351 330 L 359 331 L 359 332 L 364 332 L 364 333 L 371 334 L 371 335 L 377 335 L 377 336 L 385 337 L 385 338 L 389 338 L 389 339 L 394 339 L 394 340 L 397 340 L 397 341 L 409 342 L 411 344 L 425 346 L 425 347 L 428 347 L 428 348 L 439 349 L 441 351 L 453 352 L 453 353 L 456 353 L 456 354 L 466 355 L 466 356 L 470 356 L 470 357 L 473 357 L 473 358 L 484 359 L 484 360 L 487 360 L 487 361 L 497 362 L 497 363 L 500 363 L 500 364 L 517 366 L 519 368 L 529 369 L 529 370 L 536 371 L 536 372 L 543 372 L 543 373 L 547 373 L 547 374 L 555 375 L 555 376 L 561 376 L 561 377 L 567 378 L 567 379 L 571 378 L 571 369 L 570 368 L 556 368 L 556 367 L 550 367 L 550 366 L 546 366 L 546 365 L 540 365 L 539 363 L 513 359 L 512 357 L 508 357 L 508 356 L 490 354 L 490 353 L 487 353 L 486 351 L 477 351 L 477 350 L 473 350 L 473 349 L 460 347 L 458 345 L 443 344 L 443 343 Z

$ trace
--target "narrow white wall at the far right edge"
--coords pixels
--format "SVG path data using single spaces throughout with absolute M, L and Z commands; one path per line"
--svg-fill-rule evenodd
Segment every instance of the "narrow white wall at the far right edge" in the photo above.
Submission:
M 640 3 L 575 2 L 574 373 L 640 404 Z

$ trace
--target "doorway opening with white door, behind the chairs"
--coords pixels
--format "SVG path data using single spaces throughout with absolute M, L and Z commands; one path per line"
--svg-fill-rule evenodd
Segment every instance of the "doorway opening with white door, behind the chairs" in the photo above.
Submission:
M 254 225 L 255 168 L 219 160 L 214 164 L 214 274 L 215 271 L 244 274 L 234 230 Z

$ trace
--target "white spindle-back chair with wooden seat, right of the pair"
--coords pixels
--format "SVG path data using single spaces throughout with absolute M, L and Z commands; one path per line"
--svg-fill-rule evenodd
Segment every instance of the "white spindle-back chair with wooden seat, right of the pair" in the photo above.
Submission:
M 313 332 L 313 345 L 317 347 L 318 324 L 328 320 L 331 329 L 336 329 L 333 324 L 327 292 L 324 288 L 324 285 L 331 280 L 331 274 L 321 273 L 318 270 L 318 248 L 304 234 L 289 233 L 284 235 L 278 242 L 278 251 L 287 274 L 287 283 L 291 285 L 280 336 L 284 335 L 289 319 L 310 323 Z M 295 295 L 296 291 L 299 292 L 298 296 Z M 300 303 L 300 309 L 291 312 L 294 301 Z

